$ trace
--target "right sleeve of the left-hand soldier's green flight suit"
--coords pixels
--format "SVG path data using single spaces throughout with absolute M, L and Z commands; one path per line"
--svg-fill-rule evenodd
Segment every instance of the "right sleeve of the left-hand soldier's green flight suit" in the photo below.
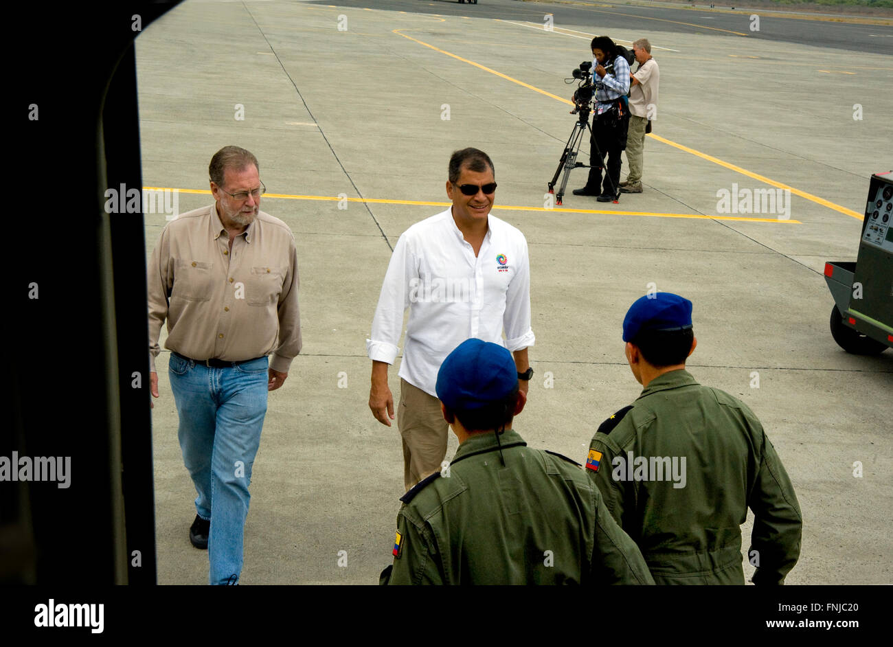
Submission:
M 597 489 L 593 494 L 596 501 L 596 536 L 592 551 L 594 583 L 653 585 L 655 580 L 638 546 L 614 521 Z

